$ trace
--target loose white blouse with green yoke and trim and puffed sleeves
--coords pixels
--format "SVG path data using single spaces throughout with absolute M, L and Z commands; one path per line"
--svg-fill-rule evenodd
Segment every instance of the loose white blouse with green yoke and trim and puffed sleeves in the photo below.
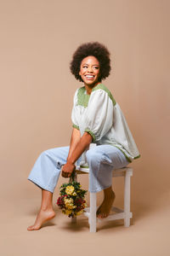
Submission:
M 77 89 L 71 119 L 81 136 L 88 132 L 93 137 L 93 143 L 119 148 L 129 162 L 139 157 L 122 110 L 104 84 L 96 85 L 90 95 L 85 86 Z

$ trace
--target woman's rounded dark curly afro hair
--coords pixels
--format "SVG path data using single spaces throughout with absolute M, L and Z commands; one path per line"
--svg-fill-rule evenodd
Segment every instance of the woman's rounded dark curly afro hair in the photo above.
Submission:
M 88 56 L 94 56 L 99 61 L 99 79 L 98 81 L 106 79 L 111 72 L 111 60 L 110 52 L 103 44 L 98 42 L 90 42 L 86 44 L 81 44 L 75 53 L 73 54 L 71 61 L 71 73 L 79 81 L 82 81 L 81 76 L 79 75 L 81 62 L 84 58 Z

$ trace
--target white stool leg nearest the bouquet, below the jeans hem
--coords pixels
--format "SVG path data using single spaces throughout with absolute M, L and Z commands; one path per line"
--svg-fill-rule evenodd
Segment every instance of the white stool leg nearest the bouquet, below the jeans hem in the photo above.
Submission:
M 96 193 L 90 193 L 90 232 L 96 232 Z

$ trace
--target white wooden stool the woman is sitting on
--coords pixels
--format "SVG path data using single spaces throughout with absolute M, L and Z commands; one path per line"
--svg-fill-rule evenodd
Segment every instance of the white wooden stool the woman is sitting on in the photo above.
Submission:
M 76 177 L 79 174 L 88 174 L 89 169 L 81 166 L 76 168 Z M 130 212 L 130 177 L 133 176 L 133 169 L 131 167 L 124 167 L 122 169 L 116 169 L 112 172 L 112 177 L 124 177 L 124 209 L 112 207 L 112 211 L 116 212 L 109 215 L 107 218 L 96 217 L 96 193 L 90 193 L 90 207 L 85 209 L 84 215 L 88 217 L 88 223 L 90 226 L 90 232 L 96 232 L 96 222 L 110 221 L 115 219 L 124 219 L 124 226 L 129 227 L 130 218 L 133 218 L 133 213 Z M 72 222 L 75 223 L 77 218 L 72 218 Z

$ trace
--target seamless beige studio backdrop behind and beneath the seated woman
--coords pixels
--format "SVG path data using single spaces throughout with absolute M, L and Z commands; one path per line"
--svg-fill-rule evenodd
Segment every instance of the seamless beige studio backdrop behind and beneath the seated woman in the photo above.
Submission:
M 169 8 L 168 0 L 0 0 L 2 255 L 169 255 Z M 133 223 L 89 234 L 86 220 L 72 227 L 55 207 L 59 216 L 28 232 L 41 193 L 27 176 L 43 150 L 70 142 L 72 97 L 82 84 L 69 63 L 88 41 L 111 51 L 104 83 L 141 154 L 131 165 Z M 88 187 L 88 177 L 81 182 Z M 123 183 L 113 183 L 119 206 Z

